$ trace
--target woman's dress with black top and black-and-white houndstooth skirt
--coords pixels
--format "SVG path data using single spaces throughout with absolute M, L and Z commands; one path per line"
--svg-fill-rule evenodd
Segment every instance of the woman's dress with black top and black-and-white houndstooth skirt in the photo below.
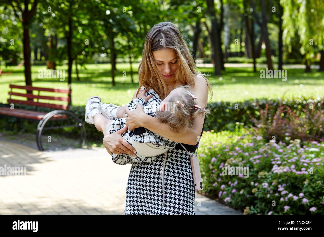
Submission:
M 206 116 L 204 124 L 205 121 Z M 202 134 L 203 129 L 200 136 Z M 183 145 L 194 155 L 198 143 Z M 126 188 L 126 215 L 195 214 L 195 186 L 190 156 L 178 143 L 168 151 L 168 158 L 164 158 L 164 154 L 161 154 L 150 163 L 132 164 Z

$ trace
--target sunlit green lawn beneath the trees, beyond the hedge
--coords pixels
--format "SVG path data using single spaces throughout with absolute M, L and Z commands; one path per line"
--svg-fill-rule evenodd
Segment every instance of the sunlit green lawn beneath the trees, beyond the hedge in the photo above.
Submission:
M 67 66 L 59 66 L 57 69 L 65 69 L 65 81 L 60 79 L 39 79 L 38 70 L 44 66 L 32 67 L 33 86 L 38 87 L 67 87 Z M 76 81 L 75 66 L 72 75 L 72 104 L 85 105 L 87 99 L 98 95 L 106 103 L 117 105 L 128 104 L 134 91 L 138 88 L 137 76 L 138 64 L 133 65 L 134 83 L 131 83 L 129 64 L 117 64 L 116 86 L 112 87 L 110 77 L 110 64 L 88 64 L 86 69 L 79 69 L 80 81 Z M 324 73 L 312 70 L 304 73 L 303 69 L 287 69 L 287 81 L 282 79 L 261 79 L 260 70 L 253 73 L 252 68 L 226 68 L 221 76 L 211 75 L 208 77 L 213 86 L 213 98 L 211 102 L 231 101 L 239 102 L 251 98 L 278 98 L 285 92 L 285 97 L 298 96 L 323 96 Z M 13 71 L 14 67 L 4 68 L 4 72 Z M 199 71 L 213 73 L 213 68 L 199 68 Z M 126 71 L 126 77 L 123 77 Z M 0 76 L 0 102 L 7 103 L 9 84 L 25 85 L 23 67 L 10 74 Z M 24 90 L 15 90 L 16 92 Z M 34 92 L 36 93 L 36 92 Z M 41 92 L 41 95 L 50 95 Z M 53 94 L 53 93 L 52 93 Z M 62 95 L 55 93 L 55 95 Z M 15 97 L 12 97 L 13 99 Z M 18 99 L 19 97 L 16 97 Z M 20 97 L 21 98 L 21 97 Z M 209 98 L 210 101 L 210 98 Z M 40 100 L 40 102 L 42 102 Z

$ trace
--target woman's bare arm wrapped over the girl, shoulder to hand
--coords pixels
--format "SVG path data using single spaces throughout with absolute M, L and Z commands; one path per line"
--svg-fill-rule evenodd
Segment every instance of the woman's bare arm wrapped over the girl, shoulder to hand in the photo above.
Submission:
M 207 82 L 203 77 L 195 77 L 195 87 L 193 93 L 197 97 L 198 105 L 203 108 L 206 107 L 208 100 L 208 87 Z M 204 116 L 197 116 L 194 119 L 193 131 L 189 131 L 187 133 L 177 133 L 172 131 L 168 124 L 162 123 L 155 117 L 145 114 L 140 104 L 137 104 L 137 108 L 138 109 L 134 111 L 129 111 L 126 109 L 128 116 L 126 119 L 126 126 L 129 127 L 129 131 L 132 131 L 137 127 L 145 127 L 146 129 L 175 142 L 196 145 L 199 141 L 200 134 L 203 129 Z

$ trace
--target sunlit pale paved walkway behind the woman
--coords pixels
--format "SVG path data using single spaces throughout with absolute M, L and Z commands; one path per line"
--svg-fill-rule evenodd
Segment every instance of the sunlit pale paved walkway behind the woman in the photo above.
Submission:
M 0 140 L 0 167 L 26 167 L 0 176 L 0 214 L 124 214 L 130 165 L 104 148 L 40 152 Z M 242 214 L 196 192 L 196 214 Z

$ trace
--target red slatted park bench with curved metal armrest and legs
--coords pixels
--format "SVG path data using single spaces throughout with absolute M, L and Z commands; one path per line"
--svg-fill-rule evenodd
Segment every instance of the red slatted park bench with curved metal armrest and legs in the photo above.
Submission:
M 44 148 L 41 143 L 41 134 L 43 130 L 48 129 L 54 129 L 54 128 L 65 128 L 65 127 L 80 127 L 81 129 L 81 135 L 82 135 L 82 145 L 85 145 L 86 140 L 86 130 L 84 127 L 84 124 L 82 124 L 81 120 L 74 114 L 68 111 L 70 101 L 71 101 L 71 84 L 69 84 L 69 87 L 67 89 L 62 88 L 42 88 L 42 87 L 33 87 L 33 86 L 18 86 L 18 85 L 9 85 L 9 88 L 11 88 L 10 92 L 8 92 L 9 99 L 8 104 L 13 104 L 13 108 L 10 107 L 0 107 L 0 114 L 2 115 L 8 115 L 13 116 L 17 118 L 22 119 L 31 119 L 31 120 L 39 120 L 37 130 L 36 130 L 36 143 L 38 146 L 38 149 L 40 151 L 44 151 Z M 17 93 L 12 92 L 12 89 L 25 89 L 26 93 Z M 27 91 L 38 91 L 38 95 L 34 95 L 32 93 L 27 93 Z M 68 97 L 57 97 L 57 96 L 43 96 L 40 95 L 41 91 L 46 92 L 60 92 L 65 93 L 68 95 Z M 22 96 L 26 97 L 28 99 L 32 100 L 15 100 L 11 99 L 11 96 Z M 34 99 L 37 99 L 35 102 Z M 54 104 L 54 103 L 43 103 L 38 102 L 39 99 L 45 99 L 45 100 L 52 100 L 52 101 L 64 101 L 67 102 L 67 104 Z M 31 105 L 35 106 L 35 110 L 24 110 L 24 109 L 16 109 L 15 104 L 25 104 L 25 105 Z M 49 113 L 46 112 L 40 112 L 37 111 L 38 107 L 45 107 L 45 108 L 52 108 L 55 109 Z M 67 115 L 72 116 L 75 121 L 77 122 L 76 125 L 73 125 L 70 123 L 70 120 Z M 49 120 L 67 120 L 68 124 L 63 126 L 53 126 L 53 127 L 45 127 L 45 124 Z M 19 122 L 18 122 L 19 123 Z

